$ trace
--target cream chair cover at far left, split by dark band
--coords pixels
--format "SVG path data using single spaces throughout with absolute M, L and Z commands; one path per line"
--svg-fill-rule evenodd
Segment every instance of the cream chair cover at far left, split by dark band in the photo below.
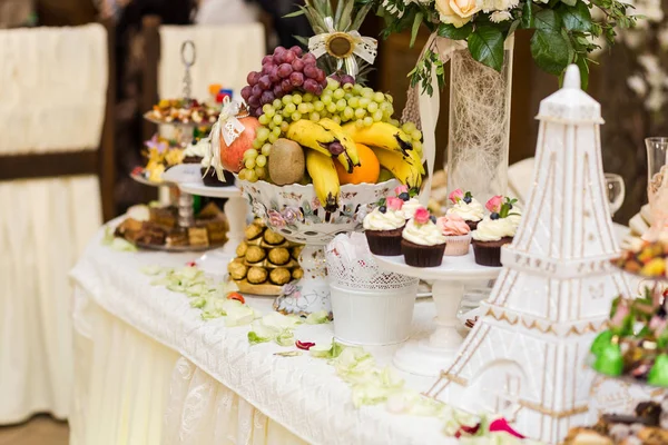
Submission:
M 97 149 L 104 27 L 0 31 L 2 156 Z M 95 176 L 0 181 L 0 424 L 66 418 L 72 375 L 68 271 L 101 224 Z

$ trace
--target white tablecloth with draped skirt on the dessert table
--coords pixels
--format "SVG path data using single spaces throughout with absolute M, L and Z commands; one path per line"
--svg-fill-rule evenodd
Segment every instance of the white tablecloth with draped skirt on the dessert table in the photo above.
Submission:
M 119 253 L 101 246 L 100 236 L 72 270 L 78 286 L 72 444 L 455 443 L 438 418 L 393 415 L 383 406 L 356 409 L 348 386 L 326 360 L 274 356 L 287 350 L 275 344 L 250 346 L 247 326 L 204 322 L 184 295 L 151 286 L 151 277 L 139 271 L 146 265 L 183 266 L 196 254 Z M 248 303 L 264 314 L 272 310 L 271 298 Z M 418 303 L 414 330 L 429 332 L 433 315 L 430 300 Z M 316 343 L 332 335 L 328 324 L 295 332 Z M 367 348 L 381 365 L 394 349 Z M 402 376 L 416 390 L 433 383 Z

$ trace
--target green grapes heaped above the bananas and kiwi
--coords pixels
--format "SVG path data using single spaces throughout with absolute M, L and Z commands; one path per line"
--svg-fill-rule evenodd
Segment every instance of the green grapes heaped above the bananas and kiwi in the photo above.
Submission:
M 373 122 L 390 122 L 399 127 L 399 121 L 392 119 L 392 102 L 390 95 L 358 83 L 341 86 L 332 78 L 327 78 L 327 86 L 320 96 L 295 91 L 275 99 L 262 107 L 263 113 L 258 118 L 262 127 L 256 131 L 253 148 L 244 152 L 245 168 L 239 172 L 239 178 L 248 181 L 266 178 L 265 166 L 272 144 L 285 135 L 292 122 L 301 119 L 317 122 L 330 118 L 336 123 L 354 121 L 360 127 L 369 127 Z

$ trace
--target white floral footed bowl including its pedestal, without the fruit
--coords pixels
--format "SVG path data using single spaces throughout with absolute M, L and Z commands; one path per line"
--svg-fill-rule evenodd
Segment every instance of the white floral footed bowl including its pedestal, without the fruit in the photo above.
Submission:
M 364 216 L 399 184 L 391 179 L 341 186 L 338 208 L 326 211 L 313 185 L 238 181 L 256 217 L 286 239 L 305 245 L 299 256 L 304 277 L 284 286 L 274 309 L 296 315 L 332 312 L 323 247 L 338 234 L 361 230 Z

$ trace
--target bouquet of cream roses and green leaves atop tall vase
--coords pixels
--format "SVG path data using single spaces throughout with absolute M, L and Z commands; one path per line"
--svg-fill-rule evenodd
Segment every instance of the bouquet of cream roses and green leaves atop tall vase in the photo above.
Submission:
M 373 0 L 357 0 L 367 3 Z M 376 0 L 379 14 L 385 18 L 384 37 L 412 30 L 414 43 L 422 24 L 438 37 L 465 41 L 473 59 L 498 71 L 503 66 L 503 44 L 517 29 L 534 30 L 531 55 L 544 71 L 560 76 L 570 63 L 580 68 L 587 87 L 590 59 L 599 48 L 595 39 L 615 41 L 615 28 L 635 26 L 637 16 L 628 16 L 631 6 L 618 0 Z M 598 10 L 592 18 L 592 10 Z M 442 86 L 443 60 L 434 39 L 424 49 L 409 75 L 411 86 L 422 85 L 430 96 L 432 70 Z

